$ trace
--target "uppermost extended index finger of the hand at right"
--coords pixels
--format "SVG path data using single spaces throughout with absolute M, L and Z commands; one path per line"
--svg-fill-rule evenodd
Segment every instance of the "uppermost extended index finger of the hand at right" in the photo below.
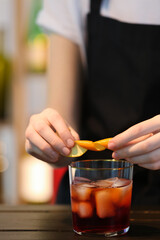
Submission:
M 154 133 L 160 129 L 160 115 L 157 115 L 149 120 L 138 123 L 123 133 L 112 138 L 109 142 L 108 148 L 110 150 L 117 150 L 124 147 L 128 142 L 144 135 Z

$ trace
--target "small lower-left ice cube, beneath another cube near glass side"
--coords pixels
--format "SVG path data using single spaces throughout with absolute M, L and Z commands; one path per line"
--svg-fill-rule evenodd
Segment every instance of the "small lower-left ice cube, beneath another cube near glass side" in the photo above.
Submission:
M 80 202 L 78 204 L 78 214 L 81 218 L 89 218 L 92 217 L 93 208 L 91 203 L 89 202 Z

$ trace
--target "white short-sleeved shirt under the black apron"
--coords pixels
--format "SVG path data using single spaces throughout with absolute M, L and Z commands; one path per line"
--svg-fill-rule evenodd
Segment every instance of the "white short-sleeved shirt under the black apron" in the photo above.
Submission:
M 81 49 L 85 62 L 86 16 L 90 0 L 43 0 L 37 22 Z M 103 0 L 100 14 L 122 22 L 160 25 L 160 0 Z

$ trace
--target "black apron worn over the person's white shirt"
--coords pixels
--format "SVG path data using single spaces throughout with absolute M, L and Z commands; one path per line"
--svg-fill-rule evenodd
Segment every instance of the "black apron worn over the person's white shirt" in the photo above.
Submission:
M 88 77 L 81 139 L 113 137 L 160 113 L 160 26 L 130 24 L 100 15 L 91 0 L 87 17 Z M 110 158 L 87 151 L 82 159 Z M 133 204 L 160 204 L 160 174 L 134 167 Z

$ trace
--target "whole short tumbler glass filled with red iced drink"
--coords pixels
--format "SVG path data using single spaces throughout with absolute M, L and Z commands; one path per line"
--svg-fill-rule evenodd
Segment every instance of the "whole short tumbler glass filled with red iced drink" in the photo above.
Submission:
M 82 160 L 69 165 L 73 230 L 106 237 L 128 232 L 133 165 L 125 160 Z

